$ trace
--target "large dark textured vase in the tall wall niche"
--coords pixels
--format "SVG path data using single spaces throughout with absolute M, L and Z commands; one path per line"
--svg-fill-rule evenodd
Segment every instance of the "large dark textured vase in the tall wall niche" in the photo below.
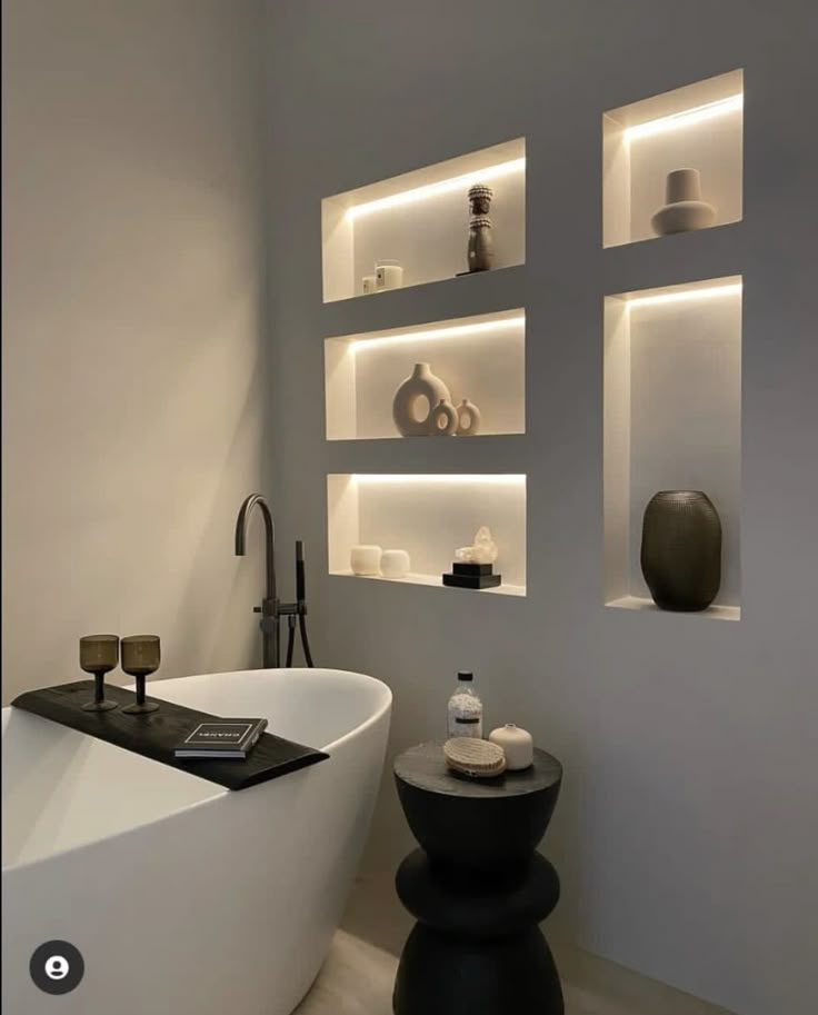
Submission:
M 642 521 L 641 566 L 659 609 L 707 609 L 721 584 L 721 520 L 701 490 L 661 490 Z

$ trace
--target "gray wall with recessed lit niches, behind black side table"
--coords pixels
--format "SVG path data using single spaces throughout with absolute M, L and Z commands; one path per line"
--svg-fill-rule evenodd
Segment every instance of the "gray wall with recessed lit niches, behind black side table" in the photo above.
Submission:
M 566 766 L 547 839 L 565 885 L 549 922 L 557 936 L 741 1015 L 811 1013 L 814 7 L 299 0 L 268 10 L 270 492 L 282 536 L 307 540 L 318 658 L 390 684 L 393 750 L 441 733 L 460 667 L 477 671 L 489 720 L 526 716 Z M 738 67 L 744 222 L 601 250 L 602 110 Z M 437 442 L 329 446 L 326 335 L 492 308 L 446 283 L 379 297 L 377 310 L 322 306 L 320 199 L 520 135 L 527 434 L 477 438 L 457 455 Z M 745 279 L 742 619 L 606 610 L 601 297 L 732 272 Z M 527 599 L 326 575 L 327 472 L 492 467 L 528 474 Z M 392 947 L 406 923 L 389 883 L 409 845 L 386 779 L 348 924 Z

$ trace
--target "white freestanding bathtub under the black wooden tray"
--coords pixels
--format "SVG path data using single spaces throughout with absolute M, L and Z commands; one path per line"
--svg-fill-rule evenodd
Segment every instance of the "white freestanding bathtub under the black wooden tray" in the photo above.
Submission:
M 331 669 L 161 680 L 157 697 L 330 758 L 230 793 L 13 708 L 2 715 L 2 1011 L 289 1015 L 340 919 L 368 834 L 391 693 Z M 240 764 L 237 763 L 237 764 Z M 86 971 L 49 996 L 34 949 Z

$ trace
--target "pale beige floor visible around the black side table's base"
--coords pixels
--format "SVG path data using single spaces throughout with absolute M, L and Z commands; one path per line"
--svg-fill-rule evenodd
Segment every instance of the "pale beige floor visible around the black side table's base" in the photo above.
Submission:
M 566 1015 L 729 1015 L 576 948 L 557 955 Z M 339 931 L 321 975 L 293 1015 L 392 1015 L 397 959 Z

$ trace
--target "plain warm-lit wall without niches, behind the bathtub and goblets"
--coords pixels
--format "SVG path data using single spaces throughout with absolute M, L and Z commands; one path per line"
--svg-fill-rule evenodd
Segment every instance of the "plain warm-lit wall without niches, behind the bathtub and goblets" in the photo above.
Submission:
M 3 700 L 99 630 L 160 634 L 164 676 L 255 659 L 260 17 L 3 3 Z

